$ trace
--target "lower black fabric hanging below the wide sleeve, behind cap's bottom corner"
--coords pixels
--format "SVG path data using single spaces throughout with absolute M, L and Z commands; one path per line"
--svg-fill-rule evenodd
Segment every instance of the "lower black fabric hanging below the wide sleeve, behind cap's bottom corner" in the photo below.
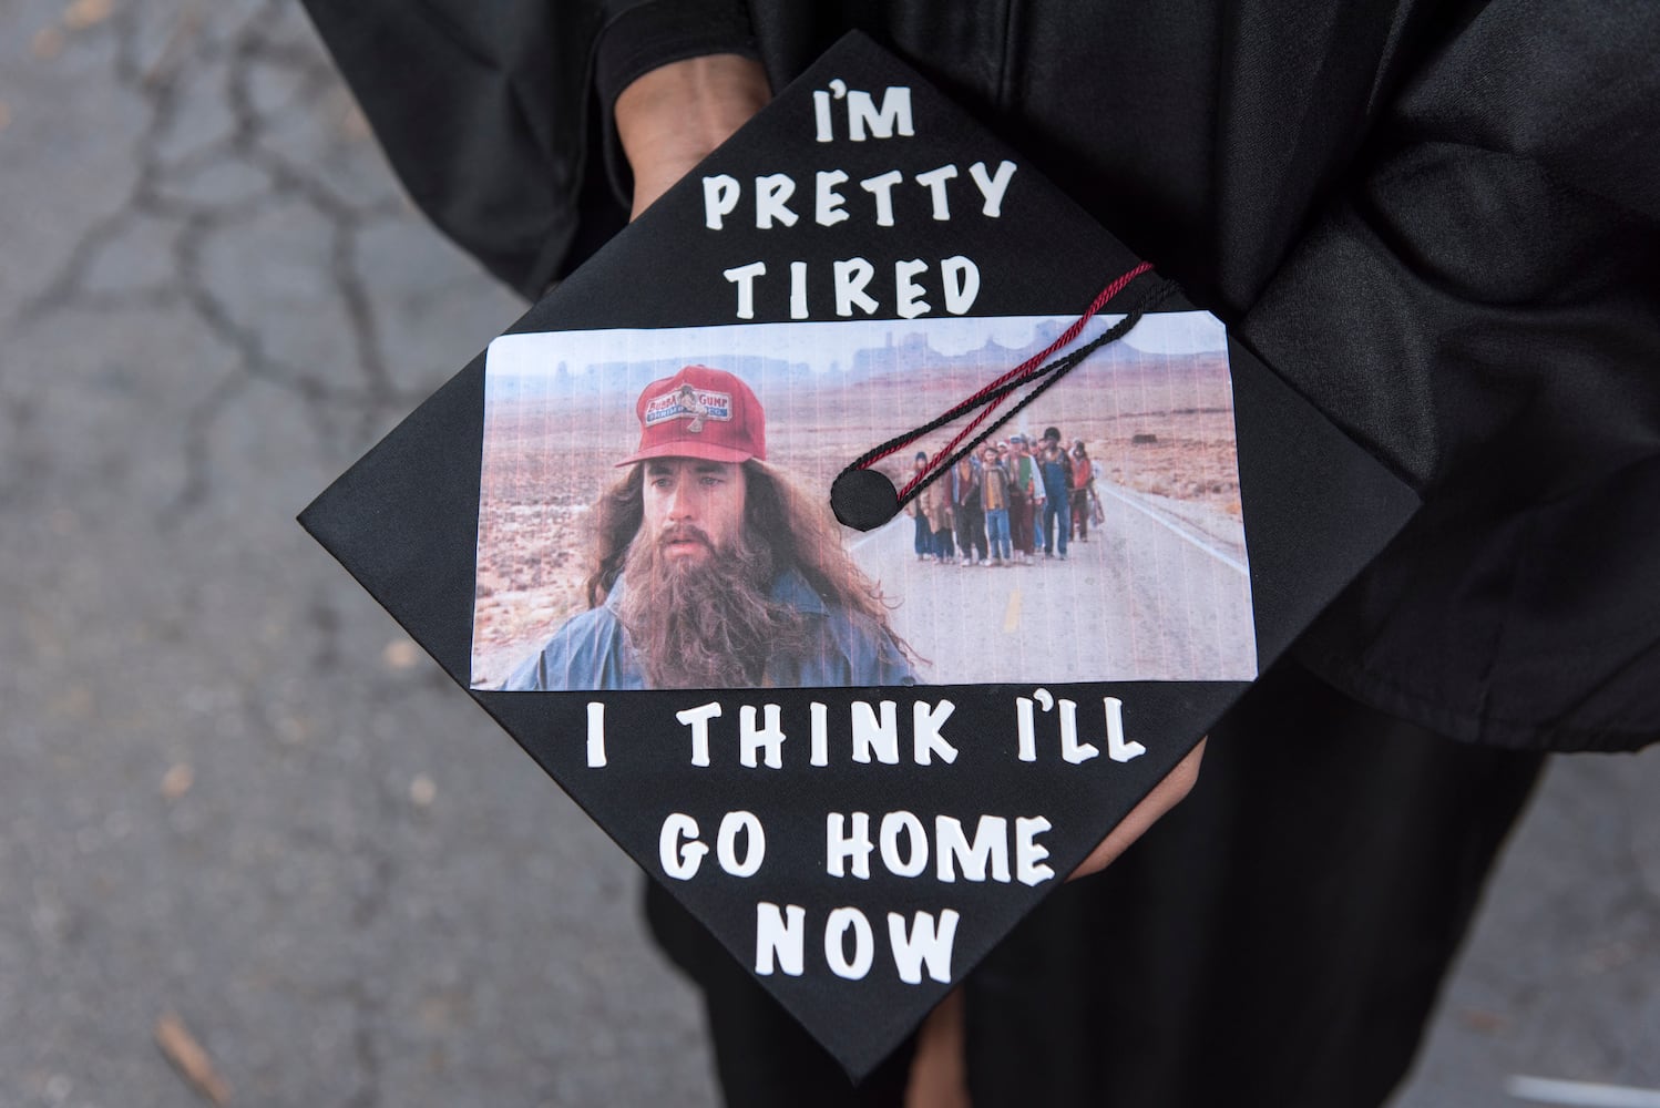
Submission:
M 974 1108 L 1384 1103 L 1540 758 L 1265 675 L 1194 793 L 969 974 Z M 704 987 L 732 1108 L 901 1103 L 910 1047 L 853 1090 L 657 886 L 647 914 Z

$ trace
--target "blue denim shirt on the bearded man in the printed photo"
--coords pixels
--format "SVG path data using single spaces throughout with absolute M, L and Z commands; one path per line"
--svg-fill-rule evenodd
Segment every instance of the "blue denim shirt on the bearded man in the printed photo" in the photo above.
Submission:
M 793 567 L 772 584 L 772 599 L 808 617 L 808 634 L 818 649 L 795 658 L 774 657 L 767 662 L 765 687 L 916 683 L 891 635 L 863 617 L 830 609 Z M 566 620 L 546 647 L 513 670 L 501 692 L 646 688 L 639 657 L 622 634 L 621 604 L 622 576 L 618 576 L 606 602 Z

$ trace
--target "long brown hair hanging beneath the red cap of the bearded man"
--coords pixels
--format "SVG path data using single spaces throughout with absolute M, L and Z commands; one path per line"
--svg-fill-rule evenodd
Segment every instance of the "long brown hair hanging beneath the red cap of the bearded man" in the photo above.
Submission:
M 589 513 L 593 559 L 584 590 L 588 607 L 599 607 L 622 572 L 629 544 L 639 534 L 644 509 L 644 464 L 599 494 Z M 910 645 L 888 625 L 888 602 L 881 589 L 848 556 L 842 531 L 830 514 L 793 481 L 762 461 L 745 461 L 744 526 L 764 536 L 777 569 L 793 567 L 827 605 L 868 619 L 880 627 L 910 660 Z

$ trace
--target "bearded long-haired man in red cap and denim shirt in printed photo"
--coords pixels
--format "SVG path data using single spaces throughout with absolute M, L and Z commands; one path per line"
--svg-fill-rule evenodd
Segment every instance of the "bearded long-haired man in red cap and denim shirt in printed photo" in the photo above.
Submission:
M 689 365 L 636 416 L 639 450 L 589 516 L 589 609 L 505 692 L 915 682 L 828 509 L 765 464 L 749 385 Z

